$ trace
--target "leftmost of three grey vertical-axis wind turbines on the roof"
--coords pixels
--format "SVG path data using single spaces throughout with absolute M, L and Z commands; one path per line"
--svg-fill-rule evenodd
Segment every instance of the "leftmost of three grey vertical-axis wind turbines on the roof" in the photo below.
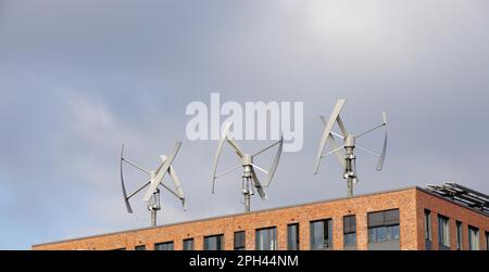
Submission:
M 153 171 L 146 170 L 145 168 L 142 168 L 142 167 L 138 166 L 137 164 L 130 161 L 129 159 L 125 158 L 124 157 L 124 144 L 122 146 L 122 151 L 121 151 L 121 184 L 122 184 L 122 191 L 123 191 L 123 196 L 124 196 L 124 202 L 126 204 L 127 212 L 133 213 L 133 208 L 130 207 L 129 199 L 149 185 L 148 190 L 145 193 L 145 196 L 142 197 L 142 200 L 148 204 L 148 209 L 151 211 L 151 226 L 156 225 L 156 212 L 161 209 L 160 186 L 164 187 L 171 194 L 173 194 L 178 199 L 180 199 L 181 205 L 184 206 L 184 210 L 186 209 L 184 190 L 181 187 L 180 180 L 176 176 L 175 169 L 172 166 L 172 163 L 175 159 L 175 156 L 178 153 L 178 150 L 180 148 L 180 146 L 181 146 L 181 142 L 176 142 L 170 156 L 160 155 L 161 164 Z M 126 186 L 124 185 L 123 163 L 126 163 L 126 164 L 133 166 L 134 168 L 138 169 L 139 171 L 142 171 L 149 176 L 149 180 L 143 185 L 138 187 L 136 191 L 130 193 L 129 195 L 127 194 Z M 175 186 L 175 190 L 172 190 L 168 185 L 163 183 L 163 178 L 165 177 L 166 173 L 170 174 L 170 179 L 172 180 L 172 182 Z

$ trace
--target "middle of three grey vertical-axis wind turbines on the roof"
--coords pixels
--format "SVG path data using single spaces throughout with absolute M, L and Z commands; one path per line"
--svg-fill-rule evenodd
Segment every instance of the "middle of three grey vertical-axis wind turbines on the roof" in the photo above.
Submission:
M 226 173 L 229 173 L 240 167 L 242 167 L 242 182 L 241 182 L 241 186 L 242 186 L 242 194 L 244 196 L 244 211 L 249 212 L 250 211 L 250 206 L 251 206 L 251 195 L 254 195 L 255 190 L 258 191 L 260 197 L 265 200 L 267 199 L 267 195 L 266 192 L 264 190 L 264 187 L 268 187 L 272 178 L 274 177 L 275 170 L 277 169 L 278 166 L 278 161 L 280 160 L 280 154 L 281 154 L 281 150 L 283 150 L 283 145 L 284 145 L 284 138 L 280 134 L 280 140 L 278 140 L 277 142 L 266 146 L 265 148 L 254 153 L 254 154 L 247 154 L 244 153 L 239 146 L 238 143 L 236 143 L 236 141 L 229 137 L 229 129 L 233 126 L 233 122 L 226 122 L 224 125 L 224 129 L 222 131 L 221 134 L 221 140 L 220 143 L 217 145 L 217 151 L 215 153 L 214 156 L 214 163 L 213 163 L 213 168 L 212 168 L 212 193 L 214 194 L 215 192 L 215 180 L 217 178 L 223 177 Z M 236 155 L 238 156 L 238 159 L 240 161 L 240 165 L 235 166 L 233 168 L 230 168 L 227 171 L 224 171 L 223 173 L 216 174 L 216 170 L 217 170 L 217 163 L 220 160 L 220 156 L 221 153 L 223 151 L 223 146 L 224 143 L 228 142 L 229 145 L 233 147 L 233 150 L 235 151 Z M 271 166 L 271 168 L 268 170 L 265 170 L 259 166 L 256 166 L 253 163 L 253 158 L 259 156 L 260 154 L 264 153 L 265 151 L 274 147 L 275 145 L 278 144 L 278 148 L 277 148 L 277 153 L 275 155 L 275 159 Z M 266 178 L 265 178 L 265 182 L 261 183 L 256 172 L 254 171 L 254 169 L 258 169 L 264 173 L 266 173 Z

